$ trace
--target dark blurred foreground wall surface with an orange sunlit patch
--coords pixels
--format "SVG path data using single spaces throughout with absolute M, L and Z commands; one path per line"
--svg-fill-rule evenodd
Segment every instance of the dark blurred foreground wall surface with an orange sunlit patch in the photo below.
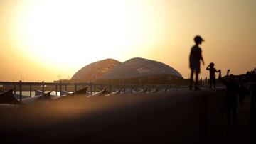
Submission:
M 228 128 L 225 91 L 75 96 L 0 108 L 0 143 L 250 143 L 250 99 Z

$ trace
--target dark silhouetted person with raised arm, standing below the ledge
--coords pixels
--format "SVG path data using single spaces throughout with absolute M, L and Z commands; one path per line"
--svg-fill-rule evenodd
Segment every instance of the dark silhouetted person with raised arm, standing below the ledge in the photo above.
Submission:
M 221 77 L 221 71 L 219 72 L 219 79 L 220 82 L 226 85 L 226 97 L 225 97 L 225 109 L 227 110 L 227 116 L 228 116 L 228 126 L 231 125 L 231 114 L 233 119 L 233 126 L 236 126 L 236 118 L 237 118 L 237 94 L 239 85 L 237 82 L 235 82 L 235 76 L 233 74 L 230 74 L 228 79 L 223 79 Z

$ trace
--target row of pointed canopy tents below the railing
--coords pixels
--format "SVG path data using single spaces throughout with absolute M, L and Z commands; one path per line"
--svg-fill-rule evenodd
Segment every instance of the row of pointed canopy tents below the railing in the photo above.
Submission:
M 87 91 L 87 87 L 78 90 L 77 92 L 67 92 L 62 90 L 60 92 L 60 96 L 55 96 L 50 94 L 50 92 L 42 92 L 38 89 L 35 89 L 35 96 L 34 97 L 28 97 L 28 96 L 22 96 L 22 101 L 19 98 L 18 94 L 14 94 L 13 93 L 13 89 L 10 89 L 6 92 L 2 92 L 0 94 L 0 104 L 14 104 L 14 105 L 29 105 L 29 104 L 35 104 L 38 102 L 49 102 L 49 101 L 55 101 L 58 99 L 64 99 L 67 97 L 71 97 L 71 96 L 75 96 L 75 95 L 83 95 L 86 97 L 91 97 L 91 96 L 117 96 L 117 95 L 121 95 L 121 94 L 141 94 L 141 93 L 153 93 L 153 92 L 167 92 L 167 90 L 169 88 L 165 88 L 165 89 L 153 89 L 151 91 L 148 91 L 148 87 L 144 88 L 144 89 L 139 89 L 139 90 L 135 90 L 135 89 L 118 89 L 115 92 L 110 92 L 107 90 L 108 87 L 106 87 L 105 89 L 101 89 L 100 87 L 98 87 L 98 89 L 100 89 L 100 92 L 95 92 L 95 94 L 91 94 L 91 92 Z

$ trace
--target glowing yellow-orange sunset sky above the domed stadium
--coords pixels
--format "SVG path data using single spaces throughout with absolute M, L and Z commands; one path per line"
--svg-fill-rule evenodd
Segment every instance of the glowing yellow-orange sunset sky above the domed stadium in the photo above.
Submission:
M 256 67 L 255 0 L 0 0 L 0 81 L 68 79 L 113 58 L 164 62 L 188 78 L 193 37 L 206 65 Z M 60 77 L 58 77 L 60 76 Z

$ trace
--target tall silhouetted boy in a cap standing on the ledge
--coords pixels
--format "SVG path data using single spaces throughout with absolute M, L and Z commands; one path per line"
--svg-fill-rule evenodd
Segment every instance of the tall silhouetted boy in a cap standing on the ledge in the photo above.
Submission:
M 201 38 L 201 36 L 197 35 L 194 38 L 194 41 L 195 41 L 196 45 L 194 45 L 191 48 L 191 53 L 189 55 L 189 67 L 191 68 L 191 77 L 190 77 L 191 81 L 190 81 L 189 89 L 190 90 L 193 89 L 193 74 L 196 73 L 195 90 L 199 90 L 198 74 L 200 73 L 200 60 L 202 60 L 203 65 L 204 65 L 202 50 L 199 47 L 199 45 L 201 45 L 201 43 L 204 40 L 203 40 L 203 38 Z

